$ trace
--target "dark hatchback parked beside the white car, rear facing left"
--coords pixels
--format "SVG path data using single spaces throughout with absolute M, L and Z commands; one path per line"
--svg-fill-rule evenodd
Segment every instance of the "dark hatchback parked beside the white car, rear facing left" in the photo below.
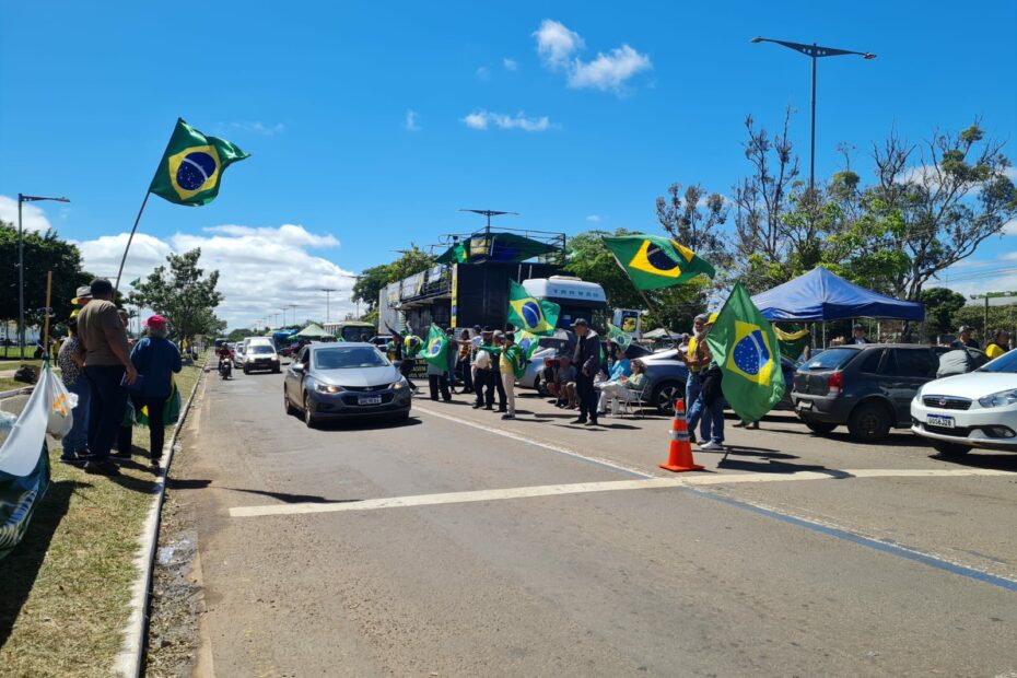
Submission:
M 891 428 L 910 428 L 911 400 L 936 377 L 945 350 L 880 343 L 827 349 L 795 373 L 795 412 L 816 433 L 846 424 L 857 441 L 880 441 Z

